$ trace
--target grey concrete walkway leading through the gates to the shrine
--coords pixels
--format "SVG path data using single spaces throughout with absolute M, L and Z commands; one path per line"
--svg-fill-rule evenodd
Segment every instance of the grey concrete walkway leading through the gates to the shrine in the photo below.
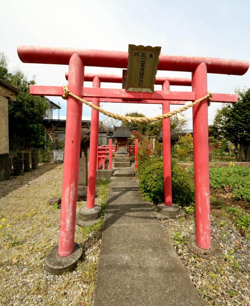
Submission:
M 134 177 L 112 178 L 93 305 L 204 305 Z

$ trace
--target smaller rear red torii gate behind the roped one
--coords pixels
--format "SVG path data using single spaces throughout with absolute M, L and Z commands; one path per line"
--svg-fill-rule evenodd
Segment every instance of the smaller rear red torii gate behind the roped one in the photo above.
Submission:
M 68 73 L 65 74 L 68 79 Z M 93 88 L 99 87 L 101 82 L 105 83 L 122 83 L 123 77 L 111 74 L 90 74 L 84 75 L 86 82 L 93 82 Z M 192 81 L 188 78 L 167 78 L 156 77 L 155 84 L 162 85 L 168 88 L 170 85 L 191 86 Z M 36 91 L 36 90 L 35 90 Z M 185 104 L 183 101 L 165 101 L 165 100 L 122 100 L 118 98 L 87 98 L 88 101 L 96 106 L 100 102 L 109 103 L 158 103 L 163 105 L 163 114 L 170 111 L 170 104 Z M 89 172 L 88 172 L 88 194 L 87 194 L 87 208 L 94 208 L 95 206 L 95 186 L 96 186 L 96 160 L 98 147 L 98 123 L 99 112 L 92 109 L 91 111 L 91 128 L 90 128 L 90 149 L 89 149 Z M 172 186 L 171 186 L 171 142 L 170 142 L 170 118 L 163 120 L 163 176 L 164 176 L 164 203 L 166 206 L 172 206 Z

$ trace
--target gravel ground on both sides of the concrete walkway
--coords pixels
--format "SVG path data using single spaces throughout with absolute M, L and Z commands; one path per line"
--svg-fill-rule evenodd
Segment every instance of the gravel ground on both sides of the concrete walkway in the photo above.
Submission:
M 43 164 L 0 182 L 0 218 L 10 225 L 4 229 L 21 243 L 12 245 L 0 237 L 0 305 L 92 303 L 101 229 L 84 233 L 76 226 L 75 241 L 82 245 L 84 258 L 73 273 L 51 276 L 44 268 L 47 253 L 58 244 L 60 219 L 60 210 L 53 210 L 47 201 L 60 197 L 62 173 L 63 165 Z M 98 197 L 96 203 L 100 201 Z M 77 210 L 84 204 L 78 203 Z M 213 241 L 222 250 L 222 256 L 212 260 L 194 258 L 187 249 L 187 240 L 195 233 L 193 215 L 181 210 L 178 219 L 160 222 L 207 305 L 249 306 L 250 242 L 230 221 L 212 213 Z

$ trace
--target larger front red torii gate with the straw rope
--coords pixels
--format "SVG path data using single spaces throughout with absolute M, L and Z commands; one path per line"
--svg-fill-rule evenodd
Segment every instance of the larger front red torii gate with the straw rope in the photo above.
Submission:
M 163 88 L 165 89 L 163 91 L 154 91 L 154 93 L 127 93 L 124 89 L 98 88 L 98 80 L 94 88 L 83 88 L 83 80 L 84 66 L 127 68 L 128 52 L 31 46 L 20 46 L 17 52 L 24 63 L 69 65 L 68 88 L 79 97 L 153 100 L 152 103 L 159 103 L 154 100 L 195 101 L 207 94 L 207 73 L 242 75 L 249 67 L 246 61 L 160 55 L 158 70 L 192 72 L 192 92 L 173 92 L 167 87 Z M 32 92 L 31 88 L 32 94 L 61 96 L 63 92 L 62 87 L 35 88 L 35 92 Z M 74 250 L 74 215 L 79 168 L 79 163 L 76 161 L 79 160 L 82 116 L 82 103 L 70 96 L 67 100 L 65 164 L 58 247 L 61 257 L 69 256 Z M 213 102 L 237 102 L 237 95 L 213 93 L 212 100 Z M 211 241 L 207 99 L 195 105 L 192 112 L 196 243 L 199 248 L 209 249 Z

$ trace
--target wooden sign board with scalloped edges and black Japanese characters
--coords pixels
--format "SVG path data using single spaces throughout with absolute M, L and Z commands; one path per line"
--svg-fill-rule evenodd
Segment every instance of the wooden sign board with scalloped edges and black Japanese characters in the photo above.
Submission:
M 127 92 L 153 93 L 161 47 L 128 45 Z

